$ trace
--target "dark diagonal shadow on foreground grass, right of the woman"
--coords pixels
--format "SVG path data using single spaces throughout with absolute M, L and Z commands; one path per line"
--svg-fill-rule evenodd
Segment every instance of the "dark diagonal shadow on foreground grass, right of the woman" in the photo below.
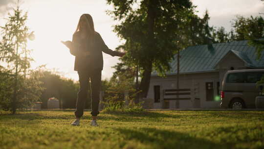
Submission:
M 220 144 L 216 144 L 205 139 L 193 137 L 189 134 L 179 133 L 171 130 L 156 128 L 126 129 L 117 128 L 116 131 L 126 140 L 139 141 L 149 145 L 154 149 L 225 149 Z M 230 148 L 230 147 L 229 147 Z

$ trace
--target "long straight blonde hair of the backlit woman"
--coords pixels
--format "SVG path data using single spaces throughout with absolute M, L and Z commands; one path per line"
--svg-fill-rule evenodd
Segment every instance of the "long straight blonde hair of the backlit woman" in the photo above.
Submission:
M 95 30 L 94 30 L 94 25 L 93 25 L 92 17 L 88 13 L 81 15 L 81 17 L 79 19 L 79 22 L 78 22 L 78 25 L 77 25 L 77 28 L 76 28 L 76 30 L 75 30 L 74 33 L 76 33 L 77 31 L 80 31 L 80 21 L 82 19 L 85 19 L 87 21 L 87 33 L 86 33 L 87 38 L 88 39 L 91 39 L 91 41 L 93 41 L 94 34 L 95 34 Z

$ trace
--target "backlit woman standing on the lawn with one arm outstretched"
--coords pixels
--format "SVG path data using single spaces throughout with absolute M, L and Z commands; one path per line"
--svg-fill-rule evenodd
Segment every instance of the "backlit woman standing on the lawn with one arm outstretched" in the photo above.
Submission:
M 75 121 L 71 125 L 80 125 L 80 118 L 84 114 L 85 101 L 88 94 L 88 82 L 91 82 L 91 115 L 92 126 L 96 123 L 99 114 L 99 94 L 101 87 L 101 71 L 103 70 L 102 51 L 111 56 L 123 56 L 125 53 L 110 50 L 104 43 L 102 37 L 94 30 L 92 17 L 83 14 L 73 34 L 72 42 L 63 42 L 70 53 L 75 56 L 74 70 L 78 72 L 80 90 L 78 92 Z

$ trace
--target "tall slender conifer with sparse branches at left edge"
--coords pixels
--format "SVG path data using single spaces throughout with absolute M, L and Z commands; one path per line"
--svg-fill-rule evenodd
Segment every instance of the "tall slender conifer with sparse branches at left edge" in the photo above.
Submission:
M 29 28 L 26 26 L 27 13 L 23 13 L 20 7 L 17 6 L 16 9 L 13 9 L 13 14 L 9 13 L 8 15 L 7 23 L 1 26 L 0 61 L 5 64 L 1 67 L 9 75 L 7 80 L 12 80 L 5 83 L 6 87 L 10 87 L 12 84 L 11 91 L 13 92 L 12 98 L 9 97 L 6 100 L 10 100 L 8 107 L 11 106 L 12 113 L 15 114 L 16 109 L 21 107 L 19 105 L 22 103 L 20 100 L 28 99 L 32 101 L 33 96 L 38 99 L 40 88 L 37 79 L 33 79 L 33 81 L 37 81 L 31 82 L 36 85 L 31 86 L 34 88 L 32 88 L 34 93 L 28 94 L 29 92 L 27 92 L 28 87 L 26 85 L 29 81 L 27 77 L 33 77 L 32 74 L 27 76 L 27 69 L 30 67 L 30 61 L 32 60 L 29 57 L 30 50 L 27 49 L 27 38 L 34 38 L 33 32 L 30 34 L 28 32 Z

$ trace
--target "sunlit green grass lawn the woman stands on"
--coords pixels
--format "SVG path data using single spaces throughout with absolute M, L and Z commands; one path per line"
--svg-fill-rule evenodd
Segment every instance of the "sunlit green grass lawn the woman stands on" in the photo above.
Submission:
M 0 112 L 0 149 L 264 149 L 264 111 Z

